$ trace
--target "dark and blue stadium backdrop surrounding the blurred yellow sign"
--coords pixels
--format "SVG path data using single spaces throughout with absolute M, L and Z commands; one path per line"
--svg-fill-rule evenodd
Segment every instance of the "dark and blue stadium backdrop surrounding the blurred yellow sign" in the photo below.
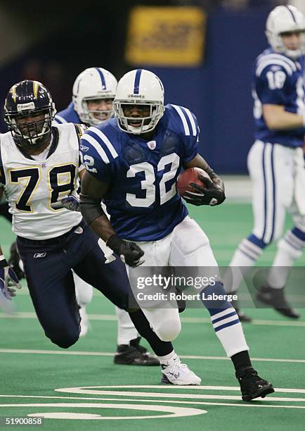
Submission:
M 84 69 L 100 66 L 118 78 L 129 65 L 124 49 L 134 6 L 199 6 L 207 11 L 205 54 L 196 67 L 152 68 L 164 82 L 166 102 L 188 106 L 201 129 L 201 152 L 219 173 L 246 173 L 252 144 L 251 68 L 266 47 L 271 0 L 111 0 L 0 2 L 0 104 L 14 82 L 36 79 L 58 111 L 70 103 Z M 1 25 L 2 24 L 2 25 Z M 145 66 L 145 65 L 144 65 Z M 1 115 L 0 131 L 6 131 Z

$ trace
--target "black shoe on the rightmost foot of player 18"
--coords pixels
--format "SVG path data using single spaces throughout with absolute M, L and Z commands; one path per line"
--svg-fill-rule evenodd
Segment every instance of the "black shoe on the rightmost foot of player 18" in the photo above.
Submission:
M 270 286 L 263 286 L 259 289 L 257 294 L 257 299 L 272 306 L 278 313 L 283 314 L 283 316 L 297 319 L 299 318 L 299 313 L 295 311 L 290 304 L 287 303 L 284 296 L 284 288 L 274 289 Z

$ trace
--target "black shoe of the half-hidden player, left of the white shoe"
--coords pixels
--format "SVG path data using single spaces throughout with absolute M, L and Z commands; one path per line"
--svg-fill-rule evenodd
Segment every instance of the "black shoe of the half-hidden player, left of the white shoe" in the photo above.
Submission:
M 119 365 L 160 366 L 159 359 L 149 354 L 145 347 L 140 346 L 140 339 L 140 337 L 131 339 L 129 346 L 127 344 L 117 346 L 114 363 Z

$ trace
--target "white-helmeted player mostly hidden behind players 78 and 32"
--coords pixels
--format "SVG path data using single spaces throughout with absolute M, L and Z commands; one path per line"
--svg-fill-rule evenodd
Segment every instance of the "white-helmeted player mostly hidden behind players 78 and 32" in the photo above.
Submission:
M 54 123 L 82 123 L 87 126 L 99 125 L 113 116 L 113 99 L 117 89 L 117 79 L 104 68 L 87 68 L 74 81 L 72 102 L 63 111 L 56 113 Z M 102 244 L 107 253 L 107 247 Z M 89 329 L 86 306 L 92 299 L 93 289 L 77 274 L 73 273 L 77 300 L 81 306 L 81 335 Z M 117 353 L 114 361 L 121 365 L 157 366 L 159 361 L 141 346 L 140 337 L 129 314 L 116 307 L 117 313 Z

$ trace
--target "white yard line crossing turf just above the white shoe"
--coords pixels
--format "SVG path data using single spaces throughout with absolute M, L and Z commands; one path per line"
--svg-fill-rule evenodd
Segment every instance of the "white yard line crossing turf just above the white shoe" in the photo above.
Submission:
M 74 355 L 74 356 L 114 356 L 114 351 L 67 351 L 67 350 L 34 350 L 34 349 L 0 349 L 0 354 L 42 354 L 42 355 Z M 226 356 L 179 355 L 182 359 L 200 359 L 202 361 L 228 361 Z M 251 358 L 252 361 L 305 363 L 305 359 L 282 358 Z M 198 386 L 199 387 L 199 386 Z

